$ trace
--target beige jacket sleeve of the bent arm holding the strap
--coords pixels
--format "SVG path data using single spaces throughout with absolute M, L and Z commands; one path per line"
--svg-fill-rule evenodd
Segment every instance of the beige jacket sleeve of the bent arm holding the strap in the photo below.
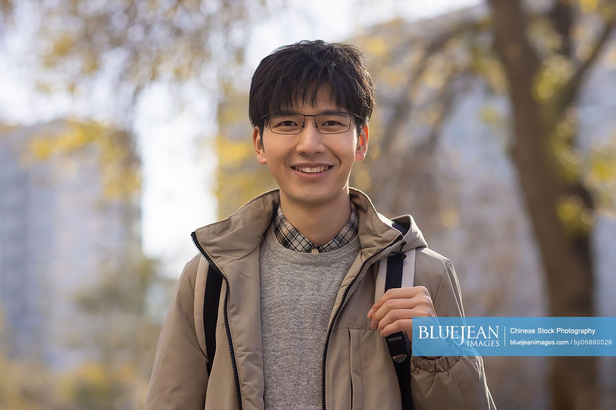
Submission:
M 436 315 L 464 316 L 460 283 L 452 262 L 432 301 Z M 411 358 L 411 396 L 416 410 L 494 409 L 480 356 Z

